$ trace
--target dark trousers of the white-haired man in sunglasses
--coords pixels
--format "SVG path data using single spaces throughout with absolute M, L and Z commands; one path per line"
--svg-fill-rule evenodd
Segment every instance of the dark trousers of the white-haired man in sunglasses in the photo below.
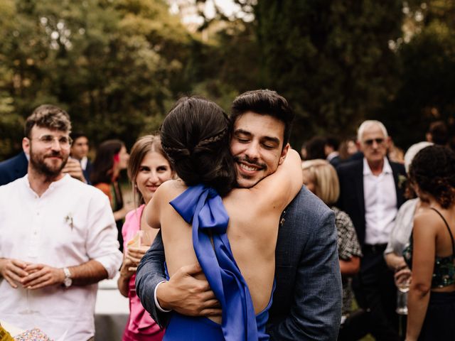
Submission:
M 393 281 L 393 272 L 385 264 L 384 245 L 362 248 L 360 272 L 354 278 L 355 299 L 364 310 L 370 311 L 370 333 L 377 341 L 399 341 L 397 288 Z

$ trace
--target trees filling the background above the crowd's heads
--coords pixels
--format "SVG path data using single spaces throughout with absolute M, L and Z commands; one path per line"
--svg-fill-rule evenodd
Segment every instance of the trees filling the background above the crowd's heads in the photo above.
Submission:
M 259 87 L 294 107 L 294 146 L 377 118 L 406 147 L 429 121 L 455 121 L 453 1 L 235 3 L 255 20 L 215 16 L 202 39 L 166 0 L 0 1 L 0 160 L 43 103 L 67 109 L 94 144 L 128 146 L 182 94 L 228 110 Z

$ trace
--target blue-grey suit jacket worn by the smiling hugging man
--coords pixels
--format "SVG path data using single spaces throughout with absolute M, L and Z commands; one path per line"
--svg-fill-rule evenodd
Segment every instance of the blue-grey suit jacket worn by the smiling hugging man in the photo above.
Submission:
M 333 211 L 303 187 L 284 210 L 275 255 L 277 287 L 269 310 L 271 340 L 336 340 L 341 320 L 341 274 Z M 161 234 L 139 264 L 137 295 L 152 318 L 166 325 L 169 313 L 154 303 L 163 281 Z

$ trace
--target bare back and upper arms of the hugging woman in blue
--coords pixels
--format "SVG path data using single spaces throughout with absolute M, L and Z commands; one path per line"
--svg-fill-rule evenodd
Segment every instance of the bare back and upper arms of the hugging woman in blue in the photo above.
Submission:
M 227 234 L 232 254 L 250 289 L 256 313 L 266 308 L 272 293 L 279 217 L 299 192 L 301 183 L 299 155 L 289 151 L 287 161 L 277 172 L 253 188 L 238 188 L 223 198 L 230 217 Z M 181 180 L 164 183 L 146 212 L 147 222 L 152 227 L 161 226 L 169 276 L 182 266 L 198 261 L 191 225 L 168 205 L 186 189 Z M 220 319 L 213 320 L 220 322 Z

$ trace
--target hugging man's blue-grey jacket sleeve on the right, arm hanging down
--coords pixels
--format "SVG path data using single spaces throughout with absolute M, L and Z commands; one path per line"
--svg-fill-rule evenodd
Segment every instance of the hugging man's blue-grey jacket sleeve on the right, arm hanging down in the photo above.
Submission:
M 312 229 L 296 274 L 294 303 L 287 318 L 272 325 L 273 341 L 337 340 L 341 322 L 341 273 L 334 215 L 326 210 Z

